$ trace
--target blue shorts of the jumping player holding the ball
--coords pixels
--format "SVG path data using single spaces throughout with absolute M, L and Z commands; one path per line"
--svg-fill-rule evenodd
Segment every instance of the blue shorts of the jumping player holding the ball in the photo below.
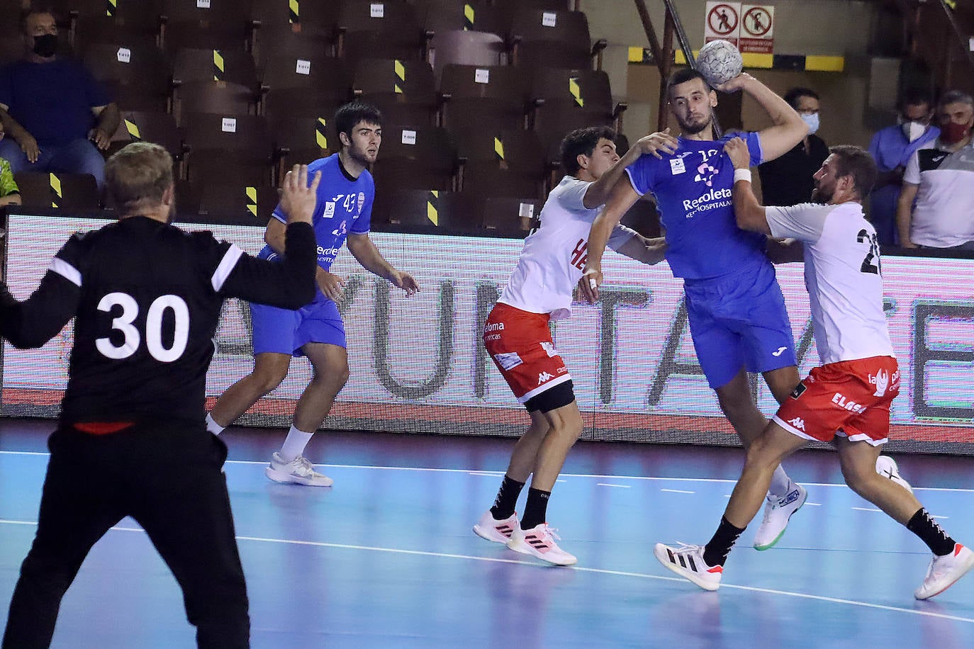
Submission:
M 770 263 L 687 280 L 684 291 L 693 348 L 711 388 L 726 385 L 742 366 L 768 372 L 797 364 L 785 299 Z

